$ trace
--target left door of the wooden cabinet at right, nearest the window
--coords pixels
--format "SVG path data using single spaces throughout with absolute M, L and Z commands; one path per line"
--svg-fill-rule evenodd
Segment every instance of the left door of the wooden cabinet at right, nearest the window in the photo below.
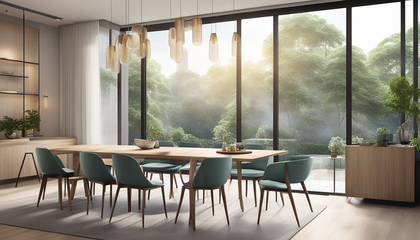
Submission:
M 373 149 L 346 146 L 346 196 L 373 198 Z

